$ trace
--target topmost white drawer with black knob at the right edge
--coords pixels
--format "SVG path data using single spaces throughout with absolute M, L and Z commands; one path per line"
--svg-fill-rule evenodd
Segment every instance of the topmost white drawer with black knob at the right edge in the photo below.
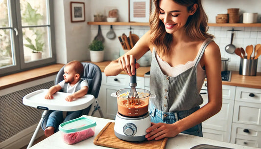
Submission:
M 261 89 L 237 87 L 235 100 L 261 104 Z

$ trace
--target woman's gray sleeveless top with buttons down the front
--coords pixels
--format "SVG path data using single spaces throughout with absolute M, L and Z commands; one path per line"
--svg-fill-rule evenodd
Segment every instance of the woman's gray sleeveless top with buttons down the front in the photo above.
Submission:
M 156 50 L 153 49 L 150 66 L 150 92 L 155 94 L 156 98 L 151 99 L 150 102 L 157 109 L 164 112 L 177 112 L 189 110 L 203 103 L 197 88 L 196 67 L 205 48 L 212 41 L 212 39 L 207 39 L 199 50 L 200 54 L 195 65 L 176 77 L 163 74 L 156 60 Z

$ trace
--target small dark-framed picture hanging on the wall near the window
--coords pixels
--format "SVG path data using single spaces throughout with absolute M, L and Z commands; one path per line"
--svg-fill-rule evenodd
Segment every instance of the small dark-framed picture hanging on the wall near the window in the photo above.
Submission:
M 84 2 L 70 2 L 71 6 L 71 22 L 85 21 Z

